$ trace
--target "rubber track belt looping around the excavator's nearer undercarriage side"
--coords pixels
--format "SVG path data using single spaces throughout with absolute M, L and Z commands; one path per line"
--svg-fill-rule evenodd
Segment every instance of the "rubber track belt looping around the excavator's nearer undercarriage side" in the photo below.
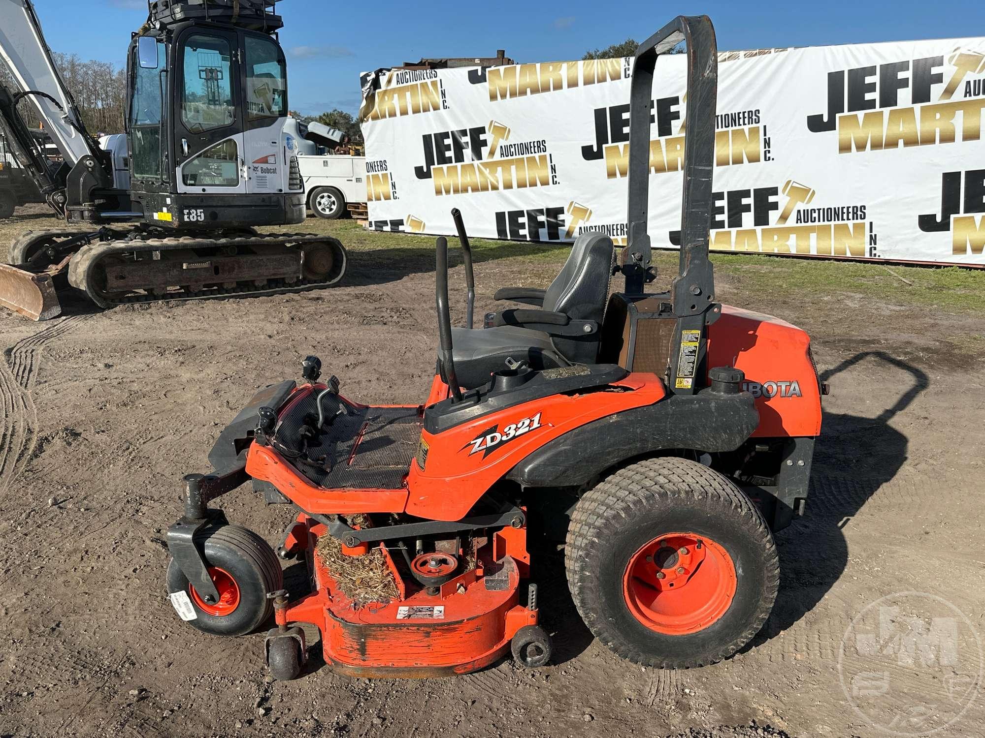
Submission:
M 95 268 L 99 261 L 111 254 L 123 254 L 134 251 L 175 251 L 178 249 L 196 248 L 226 248 L 230 246 L 278 246 L 285 247 L 303 243 L 333 242 L 342 252 L 343 264 L 341 271 L 329 281 L 313 282 L 307 279 L 298 279 L 295 284 L 277 287 L 253 287 L 249 285 L 237 285 L 235 287 L 221 287 L 210 289 L 202 294 L 185 294 L 182 292 L 168 293 L 164 295 L 155 294 L 133 294 L 123 298 L 107 299 L 99 295 L 93 284 L 92 278 L 95 275 Z M 271 233 L 269 235 L 256 236 L 231 236 L 228 238 L 194 238 L 192 236 L 177 236 L 170 238 L 149 238 L 147 240 L 117 240 L 104 241 L 101 243 L 91 243 L 83 246 L 78 253 L 72 257 L 69 263 L 69 282 L 78 288 L 85 285 L 88 297 L 101 308 L 111 308 L 117 305 L 125 305 L 137 302 L 163 302 L 173 300 L 204 300 L 215 299 L 217 297 L 237 296 L 258 296 L 271 294 L 286 294 L 290 292 L 304 292 L 309 289 L 321 289 L 337 284 L 342 277 L 345 277 L 349 266 L 349 255 L 342 243 L 331 236 L 317 235 L 314 233 Z M 180 286 L 180 285 L 173 285 Z

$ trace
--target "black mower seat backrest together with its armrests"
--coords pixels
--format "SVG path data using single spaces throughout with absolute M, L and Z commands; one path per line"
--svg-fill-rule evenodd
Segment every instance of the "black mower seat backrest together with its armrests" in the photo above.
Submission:
M 594 363 L 599 353 L 599 331 L 609 297 L 613 242 L 603 233 L 582 233 L 558 277 L 547 289 L 504 287 L 497 300 L 511 300 L 535 309 L 508 309 L 486 316 L 494 328 L 516 326 L 550 336 L 568 362 Z

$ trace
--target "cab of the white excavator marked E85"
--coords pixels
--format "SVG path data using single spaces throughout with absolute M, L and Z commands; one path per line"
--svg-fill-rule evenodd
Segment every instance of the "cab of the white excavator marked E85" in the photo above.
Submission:
M 130 197 L 148 221 L 215 229 L 304 219 L 273 5 L 150 4 L 127 56 Z

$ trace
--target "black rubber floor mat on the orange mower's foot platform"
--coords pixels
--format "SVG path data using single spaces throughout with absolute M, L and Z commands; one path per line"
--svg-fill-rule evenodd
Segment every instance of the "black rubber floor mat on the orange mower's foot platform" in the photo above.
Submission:
M 298 447 L 298 431 L 306 417 L 318 414 L 317 395 L 309 393 L 281 416 L 277 441 Z M 340 400 L 322 400 L 323 415 L 332 418 L 307 446 L 307 459 L 295 461 L 298 472 L 327 489 L 399 489 L 421 434 L 417 407 L 353 407 L 339 413 Z

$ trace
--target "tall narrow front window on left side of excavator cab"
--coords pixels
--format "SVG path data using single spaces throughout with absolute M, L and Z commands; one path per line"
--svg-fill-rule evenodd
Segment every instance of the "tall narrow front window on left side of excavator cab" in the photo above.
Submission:
M 139 54 L 139 64 L 131 65 L 133 94 L 130 100 L 129 127 L 133 176 L 160 180 L 163 159 L 162 92 L 166 86 L 164 43 L 150 36 L 143 36 L 138 42 L 136 53 Z

